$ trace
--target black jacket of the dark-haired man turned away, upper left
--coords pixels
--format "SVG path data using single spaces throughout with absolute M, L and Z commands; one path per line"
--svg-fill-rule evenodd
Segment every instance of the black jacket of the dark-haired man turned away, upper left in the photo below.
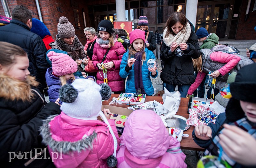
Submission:
M 28 54 L 31 76 L 36 77 L 40 84 L 38 89 L 47 87 L 45 73 L 49 64 L 46 61 L 46 48 L 43 40 L 30 31 L 29 27 L 19 20 L 12 19 L 9 25 L 0 27 L 0 41 L 9 42 L 20 46 Z

